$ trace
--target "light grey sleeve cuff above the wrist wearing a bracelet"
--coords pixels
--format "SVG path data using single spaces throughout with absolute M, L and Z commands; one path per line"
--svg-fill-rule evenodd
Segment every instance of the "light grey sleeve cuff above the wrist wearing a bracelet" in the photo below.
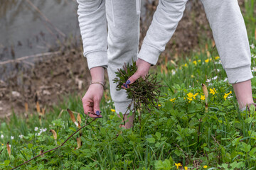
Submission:
M 89 52 L 85 57 L 89 69 L 100 66 L 107 68 L 107 51 Z

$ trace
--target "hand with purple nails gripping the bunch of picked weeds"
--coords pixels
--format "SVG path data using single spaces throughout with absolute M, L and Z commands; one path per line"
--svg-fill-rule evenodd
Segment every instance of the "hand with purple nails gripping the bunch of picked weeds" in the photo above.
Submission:
M 129 84 L 134 83 L 139 77 L 144 77 L 149 72 L 149 68 L 151 64 L 149 62 L 145 62 L 144 60 L 138 59 L 136 62 L 137 72 L 135 72 L 132 77 L 130 77 L 125 84 L 123 84 L 122 88 L 129 88 Z

